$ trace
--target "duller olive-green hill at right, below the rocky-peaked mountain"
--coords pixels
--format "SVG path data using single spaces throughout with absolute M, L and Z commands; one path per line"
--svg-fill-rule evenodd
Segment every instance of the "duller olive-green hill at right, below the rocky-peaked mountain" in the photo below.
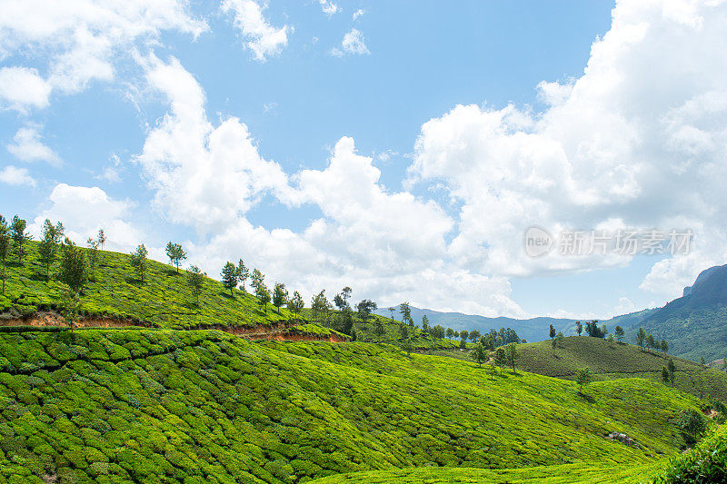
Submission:
M 697 396 L 727 401 L 727 374 L 682 360 L 660 351 L 642 350 L 631 344 L 609 343 L 600 338 L 570 336 L 558 348 L 551 341 L 519 346 L 521 368 L 542 375 L 573 379 L 576 370 L 589 367 L 596 380 L 640 377 L 662 380 L 662 367 L 676 364 L 675 386 Z

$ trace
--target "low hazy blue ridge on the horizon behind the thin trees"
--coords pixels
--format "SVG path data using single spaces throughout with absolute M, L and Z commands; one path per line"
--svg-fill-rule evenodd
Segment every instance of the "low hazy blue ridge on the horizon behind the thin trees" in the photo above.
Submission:
M 401 320 L 398 306 L 395 308 L 394 319 Z M 380 308 L 376 310 L 376 314 L 389 317 L 391 313 L 388 308 Z M 476 314 L 464 314 L 462 312 L 442 312 L 412 307 L 412 318 L 417 324 L 421 324 L 422 316 L 426 315 L 429 324 L 432 326 L 441 324 L 444 328 L 452 328 L 454 331 L 472 331 L 477 330 L 481 333 L 490 331 L 491 329 L 499 330 L 500 328 L 511 328 L 517 332 L 521 339 L 527 341 L 544 341 L 548 340 L 548 330 L 550 325 L 556 331 L 563 331 L 563 334 L 573 333 L 576 320 L 538 317 L 529 320 L 516 320 L 514 318 L 487 318 Z

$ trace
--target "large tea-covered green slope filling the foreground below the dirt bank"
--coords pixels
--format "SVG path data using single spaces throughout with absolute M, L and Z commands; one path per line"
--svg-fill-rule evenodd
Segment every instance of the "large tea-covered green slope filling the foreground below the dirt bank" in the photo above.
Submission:
M 367 343 L 5 333 L 0 484 L 41 483 L 45 473 L 232 483 L 425 466 L 645 465 L 682 446 L 674 417 L 699 403 L 641 379 L 595 382 L 587 395 L 567 380 L 491 376 Z M 603 438 L 613 430 L 646 447 Z

